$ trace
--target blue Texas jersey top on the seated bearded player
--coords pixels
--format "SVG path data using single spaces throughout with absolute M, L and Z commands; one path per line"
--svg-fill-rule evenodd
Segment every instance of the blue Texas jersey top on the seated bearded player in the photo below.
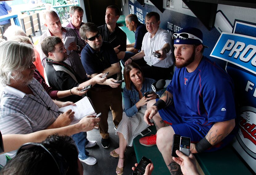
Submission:
M 167 90 L 184 122 L 209 127 L 236 117 L 233 80 L 206 57 L 191 73 L 185 67 L 176 68 Z

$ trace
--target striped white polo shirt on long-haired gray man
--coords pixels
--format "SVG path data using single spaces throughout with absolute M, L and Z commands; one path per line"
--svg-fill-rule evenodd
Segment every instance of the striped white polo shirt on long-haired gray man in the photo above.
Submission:
M 56 116 L 59 116 L 58 106 L 54 104 L 35 78 L 29 86 L 34 95 L 23 93 L 10 86 L 0 86 L 0 130 L 2 134 L 28 134 L 40 131 L 50 126 L 56 120 Z M 56 112 L 47 110 L 46 106 Z M 13 157 L 15 153 L 16 151 L 11 151 L 7 155 Z

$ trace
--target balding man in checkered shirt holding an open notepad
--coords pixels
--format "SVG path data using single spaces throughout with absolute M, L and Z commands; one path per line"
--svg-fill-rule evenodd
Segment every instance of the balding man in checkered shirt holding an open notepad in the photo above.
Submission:
M 72 28 L 61 26 L 60 18 L 58 17 L 56 12 L 51 10 L 46 11 L 43 17 L 45 20 L 44 25 L 48 28 L 48 30 L 41 36 L 38 43 L 38 51 L 40 53 L 40 58 L 42 60 L 43 67 L 45 67 L 46 64 L 46 56 L 41 49 L 41 43 L 44 38 L 46 38 L 47 36 L 57 36 L 60 37 L 64 42 L 67 37 L 75 37 L 75 41 L 71 42 L 69 46 L 67 46 L 68 50 L 70 50 L 70 53 L 65 62 L 68 63 L 68 65 L 75 70 L 76 74 L 78 74 L 80 78 L 85 79 L 86 72 L 82 66 L 81 59 L 79 56 L 79 54 L 81 53 L 81 49 L 85 46 L 84 43 L 81 41 L 79 36 Z

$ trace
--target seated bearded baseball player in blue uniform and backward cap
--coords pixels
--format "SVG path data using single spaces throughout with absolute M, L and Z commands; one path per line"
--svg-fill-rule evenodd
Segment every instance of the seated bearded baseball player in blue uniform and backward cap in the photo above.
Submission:
M 147 103 L 144 120 L 149 125 L 151 118 L 159 121 L 154 144 L 171 174 L 182 174 L 171 157 L 173 134 L 190 137 L 192 153 L 221 149 L 237 131 L 236 111 L 233 81 L 220 66 L 203 56 L 201 30 L 184 28 L 173 34 L 173 40 L 177 68 L 161 98 Z M 140 143 L 152 144 L 148 137 L 141 138 Z

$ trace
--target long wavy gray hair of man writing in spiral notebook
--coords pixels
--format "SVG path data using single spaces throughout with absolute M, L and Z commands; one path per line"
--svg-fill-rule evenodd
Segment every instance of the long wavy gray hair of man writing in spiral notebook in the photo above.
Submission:
M 1 42 L 0 50 L 0 84 L 6 86 L 22 77 L 21 71 L 31 65 L 35 52 L 32 45 L 15 41 Z

